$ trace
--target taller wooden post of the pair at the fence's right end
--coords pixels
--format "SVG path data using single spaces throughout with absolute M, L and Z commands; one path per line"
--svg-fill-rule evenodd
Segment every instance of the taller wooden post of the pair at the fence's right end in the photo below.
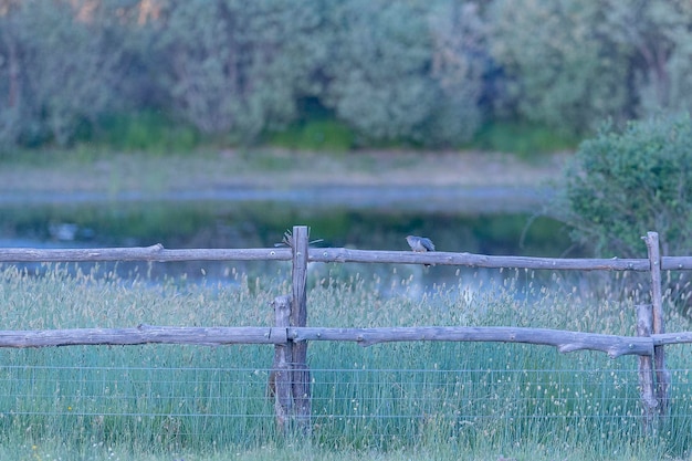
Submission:
M 642 237 L 642 239 L 647 243 L 651 271 L 651 313 L 653 334 L 661 334 L 665 333 L 665 325 L 663 322 L 659 234 L 657 232 L 647 232 L 647 237 Z M 656 399 L 658 401 L 659 415 L 664 416 L 668 412 L 670 373 L 665 367 L 665 350 L 662 345 L 653 347 L 653 368 L 656 371 Z

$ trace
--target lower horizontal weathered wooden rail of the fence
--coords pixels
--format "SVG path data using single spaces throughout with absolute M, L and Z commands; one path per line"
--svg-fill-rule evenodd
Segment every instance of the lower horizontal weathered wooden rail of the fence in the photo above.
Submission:
M 77 345 L 193 344 L 287 344 L 289 342 L 335 340 L 371 346 L 392 342 L 500 342 L 555 346 L 562 353 L 598 350 L 616 358 L 623 355 L 651 356 L 659 344 L 692 343 L 692 333 L 617 336 L 525 327 L 419 326 L 381 328 L 323 327 L 176 327 L 139 325 L 134 328 L 71 328 L 0 331 L 0 347 L 48 347 Z

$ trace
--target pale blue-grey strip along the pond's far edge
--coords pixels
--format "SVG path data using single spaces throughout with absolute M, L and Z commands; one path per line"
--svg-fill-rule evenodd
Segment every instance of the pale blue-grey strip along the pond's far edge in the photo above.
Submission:
M 457 212 L 515 212 L 535 210 L 551 195 L 547 187 L 410 187 L 410 186 L 304 186 L 289 188 L 237 187 L 178 190 L 157 193 L 139 191 L 103 193 L 0 192 L 0 207 L 69 206 L 147 202 L 284 202 L 310 207 L 348 206 L 354 209 L 400 209 Z

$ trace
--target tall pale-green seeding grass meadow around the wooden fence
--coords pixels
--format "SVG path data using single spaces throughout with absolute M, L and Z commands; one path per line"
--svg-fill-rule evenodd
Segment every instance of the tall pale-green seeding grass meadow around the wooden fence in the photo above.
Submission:
M 313 326 L 502 325 L 635 334 L 631 276 L 568 281 L 518 271 L 483 290 L 420 292 L 413 276 L 311 272 Z M 2 329 L 271 325 L 276 272 L 206 285 L 73 266 L 0 272 Z M 386 294 L 385 294 L 386 293 Z M 690 329 L 672 312 L 669 331 Z M 313 343 L 313 433 L 275 432 L 271 346 L 97 346 L 0 352 L 0 459 L 686 459 L 690 347 L 668 349 L 672 411 L 641 429 L 637 358 L 516 344 Z

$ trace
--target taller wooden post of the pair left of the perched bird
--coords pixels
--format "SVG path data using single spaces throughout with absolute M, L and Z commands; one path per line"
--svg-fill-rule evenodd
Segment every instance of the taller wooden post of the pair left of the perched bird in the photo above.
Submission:
M 293 300 L 291 303 L 291 326 L 307 326 L 307 256 L 310 229 L 307 226 L 294 226 L 292 232 L 293 250 Z M 307 342 L 293 344 L 293 402 L 295 418 L 304 433 L 311 430 L 311 376 L 307 367 Z

